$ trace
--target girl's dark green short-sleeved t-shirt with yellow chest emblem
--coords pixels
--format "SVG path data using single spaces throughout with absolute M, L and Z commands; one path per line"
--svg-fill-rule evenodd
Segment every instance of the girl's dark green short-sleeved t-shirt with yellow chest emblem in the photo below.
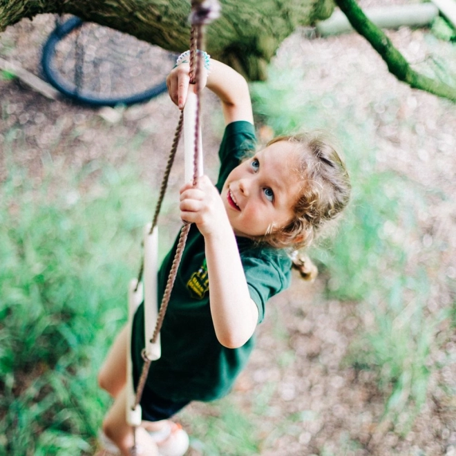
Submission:
M 249 122 L 227 125 L 220 145 L 220 191 L 227 176 L 255 146 L 254 126 Z M 291 261 L 284 251 L 258 247 L 252 240 L 236 238 L 251 298 L 258 306 L 258 322 L 265 315 L 267 300 L 289 286 Z M 158 272 L 158 302 L 161 302 L 177 240 Z M 229 281 L 229 277 L 227 277 Z M 162 357 L 151 363 L 148 387 L 174 401 L 211 401 L 225 396 L 244 368 L 254 345 L 252 336 L 240 348 L 218 342 L 209 307 L 209 281 L 205 242 L 192 225 L 175 279 L 160 332 Z M 142 369 L 144 308 L 133 323 L 132 355 L 135 384 Z

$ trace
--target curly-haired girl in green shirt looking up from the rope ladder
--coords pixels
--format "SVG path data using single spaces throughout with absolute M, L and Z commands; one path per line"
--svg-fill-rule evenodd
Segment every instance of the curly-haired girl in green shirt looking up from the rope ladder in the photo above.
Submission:
M 192 88 L 188 61 L 179 62 L 167 83 L 182 109 Z M 188 436 L 169 419 L 190 401 L 227 395 L 247 363 L 267 300 L 289 285 L 289 253 L 309 245 L 350 196 L 348 173 L 330 144 L 315 134 L 283 136 L 254 153 L 247 82 L 215 60 L 203 76 L 225 116 L 220 174 L 215 186 L 202 176 L 196 187 L 180 190 L 180 216 L 193 225 L 161 331 L 162 357 L 151 363 L 142 395 L 142 456 L 185 453 Z M 175 247 L 158 272 L 159 302 Z M 100 386 L 115 397 L 103 423 L 105 446 L 111 441 L 109 454 L 125 456 L 133 446 L 125 421 L 127 337 L 123 330 L 99 372 Z M 143 348 L 141 305 L 131 340 L 135 384 Z

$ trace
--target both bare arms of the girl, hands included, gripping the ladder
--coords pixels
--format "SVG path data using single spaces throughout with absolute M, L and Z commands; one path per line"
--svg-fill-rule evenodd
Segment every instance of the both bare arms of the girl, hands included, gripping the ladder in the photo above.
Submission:
M 171 99 L 184 107 L 189 84 L 189 63 L 180 61 L 167 77 Z M 222 102 L 226 124 L 245 120 L 253 124 L 249 87 L 244 77 L 229 66 L 211 59 L 210 71 L 202 71 L 200 84 Z M 258 323 L 258 308 L 252 301 L 233 228 L 216 187 L 207 176 L 195 187 L 187 183 L 180 194 L 182 220 L 195 223 L 205 237 L 205 251 L 213 326 L 218 341 L 228 348 L 244 345 Z

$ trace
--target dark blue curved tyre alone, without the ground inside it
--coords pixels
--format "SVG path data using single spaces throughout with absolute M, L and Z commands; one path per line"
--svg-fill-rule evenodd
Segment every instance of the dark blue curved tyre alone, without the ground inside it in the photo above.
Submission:
M 81 27 L 83 23 L 84 21 L 79 19 L 79 17 L 71 17 L 64 23 L 56 26 L 44 44 L 43 53 L 41 55 L 41 66 L 44 75 L 46 75 L 46 79 L 48 79 L 50 84 L 57 88 L 59 92 L 63 93 L 66 97 L 73 99 L 75 102 L 99 107 L 117 106 L 119 104 L 129 106 L 131 104 L 144 103 L 167 91 L 166 81 L 160 82 L 160 84 L 156 84 L 146 91 L 122 97 L 100 97 L 97 93 L 91 91 L 79 91 L 75 84 L 68 82 L 68 80 L 62 77 L 55 69 L 53 66 L 53 58 L 55 57 L 55 48 L 59 41 L 73 30 Z

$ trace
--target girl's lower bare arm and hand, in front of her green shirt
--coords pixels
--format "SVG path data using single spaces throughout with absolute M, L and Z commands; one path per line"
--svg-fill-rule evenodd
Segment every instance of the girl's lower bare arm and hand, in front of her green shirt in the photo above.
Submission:
M 209 178 L 187 183 L 180 190 L 183 220 L 196 223 L 205 236 L 213 327 L 228 348 L 244 345 L 258 323 L 258 307 L 251 299 L 234 231 L 222 199 Z

